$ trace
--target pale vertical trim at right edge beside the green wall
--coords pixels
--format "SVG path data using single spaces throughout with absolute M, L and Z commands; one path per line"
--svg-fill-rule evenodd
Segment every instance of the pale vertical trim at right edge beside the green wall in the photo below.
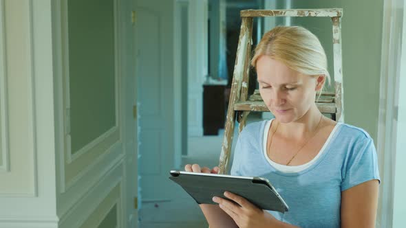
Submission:
M 400 9 L 399 9 L 400 8 Z M 396 157 L 396 81 L 400 77 L 400 38 L 402 37 L 403 0 L 383 3 L 381 81 L 378 113 L 378 163 L 381 190 L 377 227 L 392 227 L 394 218 L 394 170 Z M 400 151 L 398 151 L 400 152 Z

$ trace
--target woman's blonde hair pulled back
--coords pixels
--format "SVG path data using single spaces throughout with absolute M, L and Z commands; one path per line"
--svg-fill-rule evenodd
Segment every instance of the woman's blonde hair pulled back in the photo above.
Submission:
M 259 56 L 263 55 L 283 62 L 299 73 L 309 76 L 324 75 L 330 84 L 330 73 L 323 46 L 319 38 L 304 27 L 277 26 L 266 32 L 255 48 L 251 65 L 256 67 Z

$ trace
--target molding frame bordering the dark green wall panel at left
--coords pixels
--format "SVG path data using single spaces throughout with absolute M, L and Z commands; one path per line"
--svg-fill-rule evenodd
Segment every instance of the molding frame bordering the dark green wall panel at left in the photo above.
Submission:
M 56 56 L 61 56 L 62 58 L 56 62 L 56 69 L 58 69 L 58 73 L 61 73 L 62 75 L 62 80 L 59 80 L 56 85 L 56 87 L 61 88 L 62 87 L 62 96 L 60 96 L 59 92 L 58 95 L 56 96 L 56 100 L 58 100 L 58 105 L 56 111 L 58 113 L 58 118 L 61 117 L 63 119 L 62 124 L 60 123 L 58 128 L 61 129 L 60 134 L 58 134 L 56 137 L 58 139 L 58 147 L 61 151 L 63 151 L 63 156 L 58 157 L 59 161 L 59 178 L 60 178 L 60 192 L 67 192 L 70 187 L 75 185 L 89 170 L 92 170 L 92 168 L 95 168 L 98 164 L 98 162 L 103 161 L 111 151 L 114 150 L 122 150 L 122 136 L 123 136 L 123 131 L 122 131 L 122 125 L 121 125 L 121 114 L 122 111 L 122 93 L 120 91 L 120 85 L 121 83 L 121 70 L 120 70 L 120 60 L 122 52 L 120 51 L 119 45 L 121 40 L 119 40 L 120 33 L 119 31 L 121 30 L 120 27 L 120 16 L 121 12 L 119 10 L 118 6 L 118 0 L 114 0 L 114 52 L 115 52 L 115 59 L 114 59 L 114 69 L 115 69 L 115 95 L 116 95 L 116 125 L 107 130 L 105 133 L 100 135 L 98 138 L 94 139 L 93 141 L 89 142 L 89 144 L 85 145 L 83 148 L 78 150 L 78 152 L 75 152 L 74 155 L 72 155 L 72 146 L 71 146 L 71 137 L 70 137 L 70 85 L 69 85 L 69 47 L 68 47 L 68 34 L 67 34 L 67 27 L 68 27 L 68 19 L 67 19 L 67 0 L 61 0 L 57 1 L 55 3 L 55 11 L 60 12 L 60 16 L 56 14 L 56 23 L 54 25 L 54 28 L 56 27 L 56 45 L 54 49 L 56 49 Z M 58 27 L 60 25 L 60 28 Z M 58 50 L 61 47 L 61 50 Z M 61 90 L 58 90 L 61 91 Z M 63 130 L 62 130 L 63 129 Z M 76 159 L 79 159 L 82 155 L 85 155 L 87 152 L 89 152 L 94 146 L 97 146 L 100 144 L 100 142 L 105 141 L 109 136 L 113 135 L 114 133 L 118 132 L 119 134 L 119 139 L 116 141 L 114 144 L 110 145 L 110 148 L 107 149 L 105 152 L 103 152 L 102 155 L 98 156 L 94 161 L 92 161 L 89 166 L 87 166 L 85 169 L 81 170 L 73 179 L 70 181 L 66 181 L 65 178 L 65 169 L 70 165 L 70 163 L 76 161 Z M 66 162 L 65 162 L 66 159 Z M 98 167 L 98 166 L 97 166 Z

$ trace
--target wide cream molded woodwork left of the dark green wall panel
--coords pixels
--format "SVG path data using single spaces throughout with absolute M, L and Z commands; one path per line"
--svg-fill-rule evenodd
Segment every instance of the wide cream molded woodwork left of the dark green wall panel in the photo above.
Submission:
M 10 172 L 0 227 L 58 227 L 54 170 L 51 1 L 3 1 Z M 6 189 L 8 190 L 8 189 Z

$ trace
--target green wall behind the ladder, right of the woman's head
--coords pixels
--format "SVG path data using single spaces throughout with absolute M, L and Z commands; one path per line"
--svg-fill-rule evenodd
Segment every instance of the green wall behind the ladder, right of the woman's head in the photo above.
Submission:
M 292 8 L 343 8 L 341 24 L 345 122 L 365 129 L 375 141 L 378 131 L 383 0 L 292 0 Z M 330 19 L 293 19 L 319 36 L 332 63 Z

